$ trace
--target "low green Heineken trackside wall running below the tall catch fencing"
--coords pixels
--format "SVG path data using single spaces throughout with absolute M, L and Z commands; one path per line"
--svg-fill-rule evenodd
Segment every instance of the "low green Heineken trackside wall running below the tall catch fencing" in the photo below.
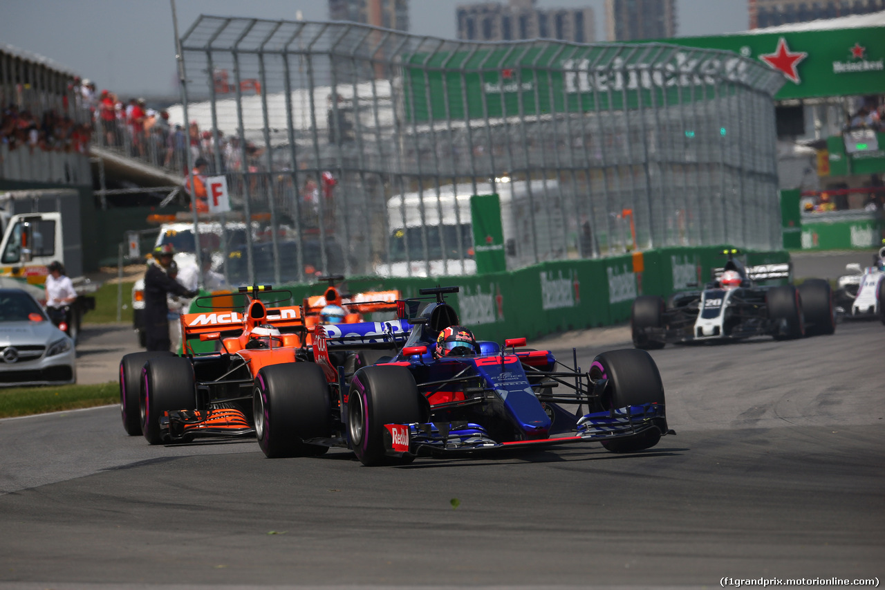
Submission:
M 515 271 L 481 276 L 353 277 L 350 292 L 398 289 L 404 298 L 435 285 L 460 287 L 447 299 L 458 310 L 461 323 L 477 338 L 503 342 L 504 338 L 539 338 L 565 330 L 583 330 L 627 322 L 639 295 L 667 297 L 674 291 L 696 288 L 709 281 L 712 269 L 725 264 L 729 245 L 672 247 L 595 260 L 558 260 Z M 747 252 L 751 266 L 788 262 L 789 252 Z M 286 285 L 293 303 L 322 292 L 321 285 Z M 190 313 L 206 310 L 191 306 Z M 373 321 L 390 314 L 374 314 Z M 213 350 L 214 343 L 195 343 L 195 350 Z

